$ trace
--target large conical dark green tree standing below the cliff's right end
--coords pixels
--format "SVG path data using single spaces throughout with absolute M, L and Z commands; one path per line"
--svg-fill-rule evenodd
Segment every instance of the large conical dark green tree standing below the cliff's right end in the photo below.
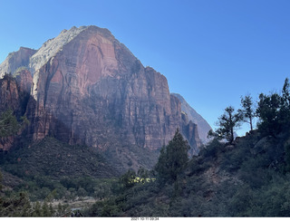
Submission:
M 189 142 L 183 139 L 179 130 L 166 147 L 160 150 L 160 158 L 155 166 L 160 178 L 166 182 L 176 181 L 179 174 L 186 168 L 190 149 Z

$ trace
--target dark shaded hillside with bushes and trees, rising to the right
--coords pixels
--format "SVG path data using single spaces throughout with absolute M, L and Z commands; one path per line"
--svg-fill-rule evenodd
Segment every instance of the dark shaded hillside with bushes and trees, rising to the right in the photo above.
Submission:
M 256 111 L 251 97 L 242 98 L 244 110 L 226 110 L 228 118 L 219 119 L 228 130 L 212 131 L 219 136 L 190 160 L 174 157 L 186 147 L 177 132 L 147 172 L 155 182 L 128 185 L 137 176 L 129 171 L 113 197 L 97 202 L 86 216 L 289 216 L 289 98 L 287 79 L 282 95 L 259 96 Z M 256 116 L 256 130 L 233 140 L 235 114 L 249 123 Z

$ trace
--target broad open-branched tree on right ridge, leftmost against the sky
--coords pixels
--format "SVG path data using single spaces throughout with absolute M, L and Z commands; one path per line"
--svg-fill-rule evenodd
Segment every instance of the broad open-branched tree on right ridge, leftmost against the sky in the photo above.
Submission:
M 228 142 L 233 143 L 235 131 L 240 127 L 242 119 L 243 117 L 240 112 L 235 112 L 232 106 L 228 106 L 225 112 L 218 118 L 218 129 L 215 132 L 210 130 L 208 137 L 227 139 Z

